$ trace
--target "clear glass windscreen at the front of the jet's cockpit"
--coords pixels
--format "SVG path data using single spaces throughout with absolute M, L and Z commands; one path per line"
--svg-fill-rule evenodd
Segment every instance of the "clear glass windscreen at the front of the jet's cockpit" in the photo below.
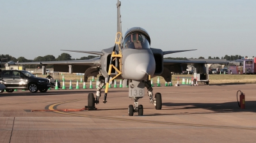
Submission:
M 147 38 L 141 33 L 132 33 L 125 37 L 123 49 L 150 49 Z

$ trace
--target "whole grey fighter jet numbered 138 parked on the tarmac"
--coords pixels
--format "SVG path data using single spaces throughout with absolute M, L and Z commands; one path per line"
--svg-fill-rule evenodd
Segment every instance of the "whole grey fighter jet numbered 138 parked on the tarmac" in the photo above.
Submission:
M 145 95 L 145 87 L 156 110 L 162 109 L 161 93 L 153 94 L 150 79 L 156 76 L 162 76 L 166 82 L 171 82 L 171 72 L 181 73 L 182 68 L 186 69 L 188 63 L 193 63 L 197 71 L 205 73 L 205 61 L 193 60 L 167 60 L 163 59 L 166 54 L 176 52 L 185 52 L 189 50 L 170 50 L 163 51 L 150 47 L 150 36 L 142 27 L 132 27 L 125 34 L 122 34 L 121 2 L 117 1 L 117 33 L 115 45 L 109 49 L 103 49 L 101 52 L 65 50 L 70 52 L 82 52 L 99 55 L 94 59 L 76 60 L 76 61 L 41 61 L 29 63 L 14 64 L 41 64 L 45 74 L 45 65 L 54 64 L 55 72 L 84 73 L 84 81 L 88 77 L 99 76 L 99 85 L 97 85 L 96 96 L 93 93 L 88 94 L 88 109 L 95 109 L 95 104 L 100 102 L 102 88 L 106 86 L 103 103 L 107 102 L 109 83 L 115 79 L 126 81 L 129 86 L 129 98 L 134 100 L 134 106 L 129 105 L 129 116 L 138 112 L 139 116 L 143 115 L 143 105 L 139 105 L 140 98 Z M 195 49 L 193 49 L 195 50 Z

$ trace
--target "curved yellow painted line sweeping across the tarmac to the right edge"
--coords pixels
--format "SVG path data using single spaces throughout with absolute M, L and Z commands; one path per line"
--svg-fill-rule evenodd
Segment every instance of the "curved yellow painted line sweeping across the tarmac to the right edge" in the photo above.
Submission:
M 61 105 L 63 103 L 69 103 L 69 102 L 77 102 L 80 100 L 70 100 L 67 102 L 60 102 L 60 103 L 54 103 L 52 105 L 49 105 L 49 110 L 55 110 L 58 105 Z M 74 114 L 70 112 L 60 112 L 60 111 L 54 111 L 59 114 L 66 114 L 71 116 L 79 116 L 79 117 L 92 117 L 97 119 L 110 119 L 110 120 L 116 120 L 116 121 L 129 121 L 129 122 L 138 122 L 138 123 L 152 123 L 152 124 L 170 124 L 170 125 L 179 125 L 179 126 L 196 126 L 196 127 L 207 127 L 207 128 L 233 128 L 233 129 L 244 129 L 244 130 L 256 130 L 256 128 L 250 128 L 250 127 L 239 127 L 239 126 L 216 126 L 216 125 L 207 125 L 207 124 L 187 124 L 187 123 L 170 123 L 170 122 L 161 122 L 161 121 L 145 121 L 145 120 L 138 120 L 138 119 L 122 119 L 118 117 L 103 117 L 103 116 L 88 116 L 88 115 L 81 115 L 81 114 Z

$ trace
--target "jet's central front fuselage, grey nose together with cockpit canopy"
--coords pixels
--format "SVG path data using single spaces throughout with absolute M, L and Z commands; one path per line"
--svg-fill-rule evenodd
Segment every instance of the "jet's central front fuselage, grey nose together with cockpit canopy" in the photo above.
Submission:
M 122 77 L 131 80 L 147 80 L 154 75 L 156 62 L 150 50 L 150 37 L 141 27 L 133 27 L 125 33 L 122 43 Z

